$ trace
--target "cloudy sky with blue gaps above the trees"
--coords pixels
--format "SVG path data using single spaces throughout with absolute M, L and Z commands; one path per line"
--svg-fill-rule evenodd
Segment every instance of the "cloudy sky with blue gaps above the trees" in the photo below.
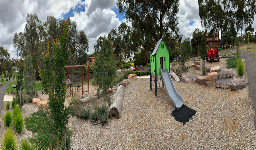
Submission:
M 44 22 L 53 15 L 77 23 L 77 30 L 84 30 L 89 39 L 89 54 L 99 36 L 117 29 L 124 20 L 116 7 L 116 0 L 0 0 L 0 46 L 8 49 L 10 57 L 17 58 L 12 40 L 15 32 L 23 32 L 26 14 L 36 13 Z M 180 34 L 191 37 L 195 28 L 204 30 L 198 14 L 197 0 L 180 0 L 178 14 Z

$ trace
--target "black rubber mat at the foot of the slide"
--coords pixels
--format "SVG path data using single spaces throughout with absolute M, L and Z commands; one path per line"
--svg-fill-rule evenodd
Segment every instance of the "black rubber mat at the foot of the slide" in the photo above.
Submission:
M 193 116 L 196 114 L 197 111 L 183 105 L 180 110 L 175 109 L 172 111 L 172 116 L 178 122 L 182 122 L 183 126 L 188 122 Z

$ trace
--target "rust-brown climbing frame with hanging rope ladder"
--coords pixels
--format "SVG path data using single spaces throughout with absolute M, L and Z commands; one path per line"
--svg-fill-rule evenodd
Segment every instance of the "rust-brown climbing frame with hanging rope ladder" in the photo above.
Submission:
M 88 67 L 88 82 L 87 82 L 87 90 L 84 91 L 84 79 L 83 79 L 83 67 Z M 68 79 L 65 79 L 65 82 L 66 84 L 68 85 L 68 89 L 70 91 L 70 94 L 73 96 L 73 68 L 76 68 L 76 71 L 75 71 L 75 93 L 76 92 L 79 92 L 79 95 L 80 95 L 80 87 L 82 89 L 82 95 L 83 93 L 85 92 L 88 92 L 88 94 L 90 93 L 89 91 L 89 65 L 67 65 L 65 66 L 65 68 L 68 69 Z M 71 81 L 70 81 L 70 77 L 69 77 L 69 68 L 71 68 Z M 81 80 L 81 83 L 82 85 L 78 85 L 79 84 L 79 71 L 77 70 L 77 68 L 81 68 L 81 77 L 82 77 L 82 80 Z

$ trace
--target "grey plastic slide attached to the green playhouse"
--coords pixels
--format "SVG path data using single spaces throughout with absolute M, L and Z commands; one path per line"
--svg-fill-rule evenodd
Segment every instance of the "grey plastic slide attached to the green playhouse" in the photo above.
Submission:
M 170 99 L 174 107 L 176 107 L 177 109 L 181 108 L 183 105 L 183 98 L 176 91 L 168 68 L 166 68 L 166 70 L 160 68 L 160 74 L 162 76 L 168 98 Z

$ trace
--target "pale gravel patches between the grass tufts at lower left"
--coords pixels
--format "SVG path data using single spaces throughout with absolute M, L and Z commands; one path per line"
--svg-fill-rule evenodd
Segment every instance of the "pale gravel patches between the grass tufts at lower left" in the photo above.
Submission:
M 4 135 L 5 130 L 6 130 L 5 123 L 3 121 L 4 115 L 7 112 L 7 110 L 5 108 L 6 103 L 7 103 L 6 101 L 3 102 L 3 109 L 2 109 L 2 112 L 1 112 L 1 119 L 0 119 L 0 136 L 1 137 Z M 11 111 L 11 112 L 13 111 L 11 106 L 10 106 L 9 111 Z M 37 112 L 36 105 L 32 105 L 32 104 L 29 104 L 29 103 L 26 102 L 22 106 L 21 113 L 22 113 L 22 116 L 23 116 L 23 119 L 24 119 L 24 124 L 25 124 L 25 118 L 31 116 L 30 114 L 33 113 L 33 112 Z M 14 131 L 13 122 L 11 123 L 11 129 Z M 18 142 L 18 145 L 20 145 L 21 144 L 21 139 L 16 134 L 14 134 L 14 135 L 15 135 L 15 138 L 16 138 L 16 140 Z M 31 131 L 29 131 L 28 129 L 26 129 L 25 126 L 24 126 L 23 132 L 21 132 L 18 135 L 22 139 L 33 137 L 33 133 Z M 2 143 L 2 140 L 0 140 L 0 144 L 1 143 Z

